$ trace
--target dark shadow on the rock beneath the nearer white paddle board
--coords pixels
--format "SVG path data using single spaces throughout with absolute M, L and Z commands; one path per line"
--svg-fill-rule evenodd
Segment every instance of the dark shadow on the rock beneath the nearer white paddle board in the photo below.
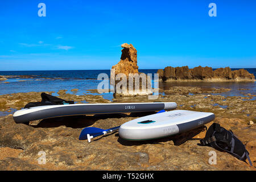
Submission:
M 187 140 L 195 140 L 192 138 L 200 134 L 202 131 L 205 131 L 205 128 L 206 126 L 201 126 L 196 129 L 187 131 L 186 133 L 181 133 L 181 134 L 172 135 L 170 137 L 164 137 L 159 139 L 131 141 L 131 140 L 125 140 L 119 137 L 117 141 L 124 146 L 139 146 L 142 144 L 163 144 L 162 142 L 168 142 L 172 140 L 175 146 L 180 146 L 181 144 L 187 142 Z M 118 134 L 115 134 L 115 135 L 117 137 L 119 136 Z

